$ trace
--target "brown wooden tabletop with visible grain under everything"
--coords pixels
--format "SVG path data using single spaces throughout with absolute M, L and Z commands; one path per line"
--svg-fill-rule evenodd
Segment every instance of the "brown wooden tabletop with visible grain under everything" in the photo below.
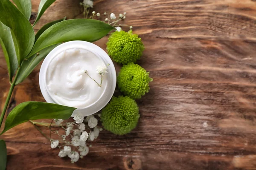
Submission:
M 64 16 L 81 18 L 79 2 L 56 0 L 35 31 Z M 32 0 L 32 11 L 38 5 Z M 71 164 L 24 123 L 0 137 L 7 170 L 256 170 L 256 0 L 95 0 L 94 7 L 127 12 L 125 23 L 145 44 L 139 64 L 154 81 L 137 100 L 137 128 L 125 136 L 103 131 Z M 106 41 L 96 44 L 105 49 Z M 15 88 L 8 111 L 44 101 L 39 69 Z M 3 108 L 9 83 L 2 51 L 0 79 Z

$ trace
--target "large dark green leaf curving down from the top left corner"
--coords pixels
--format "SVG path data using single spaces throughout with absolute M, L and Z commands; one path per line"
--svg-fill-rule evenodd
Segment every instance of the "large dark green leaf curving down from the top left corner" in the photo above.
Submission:
M 15 51 L 20 65 L 33 47 L 34 30 L 26 17 L 9 0 L 0 0 L 0 21 L 13 31 L 17 40 Z

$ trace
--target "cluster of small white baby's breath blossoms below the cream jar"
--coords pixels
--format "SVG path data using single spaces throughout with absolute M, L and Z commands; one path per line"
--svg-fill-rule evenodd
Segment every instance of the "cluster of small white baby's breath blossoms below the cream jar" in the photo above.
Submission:
M 58 153 L 58 156 L 61 158 L 68 156 L 72 163 L 87 155 L 89 152 L 87 142 L 96 139 L 99 136 L 100 130 L 102 130 L 102 128 L 97 127 L 98 120 L 93 115 L 87 116 L 86 119 L 84 119 L 84 116 L 78 113 L 73 119 L 75 120 L 74 122 L 67 122 L 66 124 L 61 124 L 64 121 L 62 119 L 54 119 L 55 124 L 60 125 L 60 127 L 65 130 L 66 134 L 60 135 L 58 130 L 51 130 L 51 132 L 55 132 L 61 136 L 63 141 L 63 144 L 61 145 L 59 140 L 51 139 L 51 148 L 54 149 L 59 147 L 60 152 Z M 85 125 L 84 123 L 87 123 L 88 125 Z M 77 127 L 77 129 L 74 127 Z M 74 150 L 72 150 L 71 147 L 74 148 Z

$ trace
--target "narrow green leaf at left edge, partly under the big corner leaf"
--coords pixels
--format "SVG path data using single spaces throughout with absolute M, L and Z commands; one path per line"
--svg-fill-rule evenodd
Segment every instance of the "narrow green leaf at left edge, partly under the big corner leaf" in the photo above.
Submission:
M 3 48 L 3 54 L 6 59 L 10 82 L 12 82 L 12 77 L 18 68 L 18 61 L 15 53 L 15 45 L 17 44 L 14 43 L 17 41 L 12 34 L 13 31 L 0 21 L 0 45 Z

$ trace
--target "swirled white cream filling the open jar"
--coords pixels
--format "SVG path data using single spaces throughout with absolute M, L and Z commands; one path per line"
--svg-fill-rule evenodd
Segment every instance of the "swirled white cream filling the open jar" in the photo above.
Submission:
M 98 65 L 105 65 L 102 59 L 82 48 L 62 51 L 51 60 L 46 73 L 46 86 L 49 96 L 60 105 L 85 108 L 96 102 L 107 88 L 108 75 L 96 72 Z M 95 79 L 93 81 L 88 75 Z

